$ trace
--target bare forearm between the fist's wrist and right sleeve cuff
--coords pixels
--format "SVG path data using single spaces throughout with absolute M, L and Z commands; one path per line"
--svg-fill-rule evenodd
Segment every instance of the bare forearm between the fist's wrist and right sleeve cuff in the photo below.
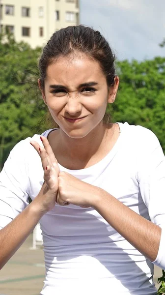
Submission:
M 161 228 L 99 189 L 93 207 L 105 220 L 150 261 L 158 254 Z

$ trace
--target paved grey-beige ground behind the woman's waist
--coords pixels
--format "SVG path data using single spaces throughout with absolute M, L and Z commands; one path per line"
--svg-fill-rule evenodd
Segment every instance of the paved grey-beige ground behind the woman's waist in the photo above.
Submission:
M 42 246 L 30 250 L 32 235 L 0 271 L 0 295 L 39 295 L 45 268 Z M 155 267 L 155 283 L 162 270 Z

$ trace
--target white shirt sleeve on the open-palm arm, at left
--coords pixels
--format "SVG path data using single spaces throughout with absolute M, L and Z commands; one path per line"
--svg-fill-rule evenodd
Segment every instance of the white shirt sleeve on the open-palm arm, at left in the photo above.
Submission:
M 0 229 L 27 207 L 27 165 L 25 141 L 10 152 L 0 173 Z

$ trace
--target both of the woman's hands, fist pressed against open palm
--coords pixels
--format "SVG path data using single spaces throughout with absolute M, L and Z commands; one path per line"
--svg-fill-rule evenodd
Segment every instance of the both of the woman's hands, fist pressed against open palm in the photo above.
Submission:
M 59 171 L 55 154 L 47 138 L 40 138 L 43 147 L 35 141 L 31 141 L 30 144 L 38 152 L 44 170 L 44 184 L 36 197 L 41 210 L 44 213 L 48 212 L 53 209 L 55 202 L 60 206 L 73 204 L 84 208 L 94 207 L 100 198 L 101 189 L 69 173 Z

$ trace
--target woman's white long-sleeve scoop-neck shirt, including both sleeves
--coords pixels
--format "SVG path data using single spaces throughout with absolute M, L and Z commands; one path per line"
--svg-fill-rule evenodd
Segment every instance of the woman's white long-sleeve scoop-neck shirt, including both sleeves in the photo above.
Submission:
M 155 265 L 165 268 L 165 156 L 157 137 L 141 126 L 119 123 L 120 136 L 95 165 L 66 171 L 101 187 L 162 228 Z M 48 136 L 51 130 L 43 133 Z M 33 200 L 43 169 L 31 140 L 18 143 L 0 173 L 0 228 Z M 156 295 L 154 264 L 93 208 L 55 205 L 41 220 L 46 278 L 41 295 Z

